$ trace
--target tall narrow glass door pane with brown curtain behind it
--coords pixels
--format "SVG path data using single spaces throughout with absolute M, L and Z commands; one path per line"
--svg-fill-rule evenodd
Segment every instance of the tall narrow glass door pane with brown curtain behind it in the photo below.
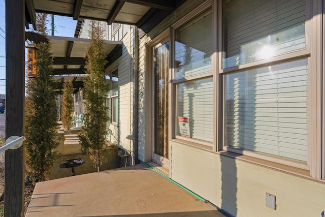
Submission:
M 152 159 L 168 166 L 169 158 L 169 42 L 153 47 L 154 145 Z

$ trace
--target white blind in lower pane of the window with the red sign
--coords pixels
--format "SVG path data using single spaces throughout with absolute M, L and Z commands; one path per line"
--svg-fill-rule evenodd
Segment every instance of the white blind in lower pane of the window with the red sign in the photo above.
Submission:
M 178 84 L 178 117 L 189 119 L 190 138 L 213 140 L 213 79 L 205 78 Z M 179 126 L 177 123 L 176 126 Z M 177 135 L 180 135 L 177 128 Z

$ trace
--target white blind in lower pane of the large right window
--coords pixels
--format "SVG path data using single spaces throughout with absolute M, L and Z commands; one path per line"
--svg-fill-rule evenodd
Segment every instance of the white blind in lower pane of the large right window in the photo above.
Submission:
M 225 75 L 226 144 L 307 162 L 307 60 Z

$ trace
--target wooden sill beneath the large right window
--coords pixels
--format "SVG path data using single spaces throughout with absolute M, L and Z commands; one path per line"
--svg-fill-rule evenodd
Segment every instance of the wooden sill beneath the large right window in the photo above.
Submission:
M 299 177 L 316 180 L 315 178 L 310 176 L 309 170 L 305 170 L 305 169 L 301 169 L 301 168 L 297 168 L 297 167 L 293 167 L 293 166 L 288 166 L 288 165 L 284 165 L 284 164 L 280 164 L 280 163 L 276 163 L 276 162 L 272 162 L 272 161 L 267 161 L 267 160 L 263 160 L 263 159 L 258 159 L 258 158 L 254 158 L 251 156 L 246 156 L 246 155 L 242 155 L 239 153 L 234 153 L 234 152 L 230 152 L 230 151 L 226 151 L 226 150 L 219 151 L 218 153 L 221 156 L 235 158 L 240 161 L 256 164 L 259 166 L 264 166 L 267 168 L 279 170 L 279 171 L 289 173 L 289 174 L 294 174 Z M 319 181 L 323 182 L 323 180 L 319 180 Z

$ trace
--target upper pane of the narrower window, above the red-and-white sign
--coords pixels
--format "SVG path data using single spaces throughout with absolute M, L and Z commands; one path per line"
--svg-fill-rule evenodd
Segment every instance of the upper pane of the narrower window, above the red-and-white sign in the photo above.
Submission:
M 175 79 L 211 72 L 211 10 L 175 29 Z

